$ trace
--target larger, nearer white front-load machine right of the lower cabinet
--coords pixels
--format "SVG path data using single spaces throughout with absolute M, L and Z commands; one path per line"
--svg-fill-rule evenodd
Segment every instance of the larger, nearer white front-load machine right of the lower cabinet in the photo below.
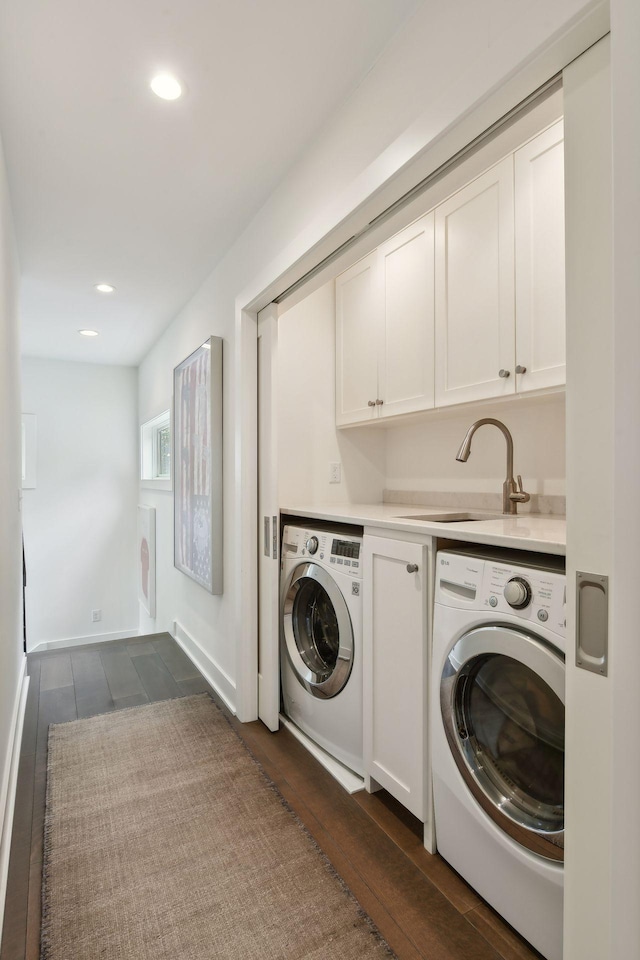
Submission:
M 431 736 L 438 852 L 561 960 L 566 581 L 554 560 L 438 553 Z

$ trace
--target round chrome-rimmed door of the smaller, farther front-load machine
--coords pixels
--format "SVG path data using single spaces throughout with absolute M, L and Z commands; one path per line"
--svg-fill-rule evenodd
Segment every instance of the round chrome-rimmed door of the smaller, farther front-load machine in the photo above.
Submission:
M 283 633 L 297 679 L 314 697 L 335 697 L 353 666 L 353 628 L 342 591 L 317 563 L 300 563 L 283 597 Z

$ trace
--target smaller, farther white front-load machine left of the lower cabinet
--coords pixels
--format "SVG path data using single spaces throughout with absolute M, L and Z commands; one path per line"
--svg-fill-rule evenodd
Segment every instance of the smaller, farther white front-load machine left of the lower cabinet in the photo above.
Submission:
M 280 582 L 284 713 L 363 776 L 362 537 L 286 526 Z

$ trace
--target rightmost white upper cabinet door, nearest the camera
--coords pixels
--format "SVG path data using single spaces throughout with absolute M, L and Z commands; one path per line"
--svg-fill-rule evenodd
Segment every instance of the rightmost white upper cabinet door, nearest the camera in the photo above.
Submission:
M 517 389 L 565 383 L 564 125 L 515 155 Z

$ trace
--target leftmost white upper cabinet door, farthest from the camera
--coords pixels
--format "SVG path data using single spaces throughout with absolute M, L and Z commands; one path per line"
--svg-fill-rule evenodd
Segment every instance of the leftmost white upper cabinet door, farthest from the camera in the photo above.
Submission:
M 377 250 L 336 280 L 336 424 L 378 416 L 382 313 Z

